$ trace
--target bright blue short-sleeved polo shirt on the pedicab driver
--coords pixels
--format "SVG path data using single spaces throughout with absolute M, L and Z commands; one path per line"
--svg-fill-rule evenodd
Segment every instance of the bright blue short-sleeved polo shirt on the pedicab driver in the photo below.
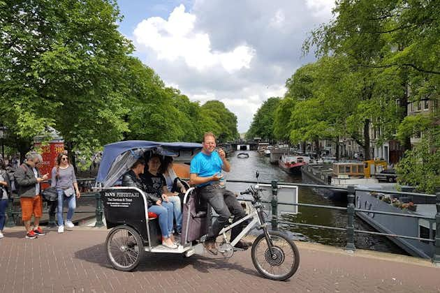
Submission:
M 198 153 L 191 160 L 191 167 L 189 167 L 189 173 L 197 174 L 200 177 L 210 177 L 214 174 L 221 172 L 223 161 L 221 160 L 219 153 L 213 151 L 211 155 L 205 155 L 205 153 Z M 198 187 L 212 184 L 212 181 L 198 184 Z

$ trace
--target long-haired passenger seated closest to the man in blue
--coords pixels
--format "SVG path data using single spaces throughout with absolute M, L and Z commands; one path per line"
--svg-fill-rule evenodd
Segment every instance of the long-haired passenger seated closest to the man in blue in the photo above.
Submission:
M 174 216 L 176 220 L 176 232 L 181 234 L 182 232 L 182 198 L 180 195 L 186 192 L 182 182 L 179 181 L 179 177 L 173 170 L 173 157 L 165 157 L 159 173 L 165 178 L 166 184 L 163 186 L 163 193 L 168 196 L 168 200 L 173 204 Z

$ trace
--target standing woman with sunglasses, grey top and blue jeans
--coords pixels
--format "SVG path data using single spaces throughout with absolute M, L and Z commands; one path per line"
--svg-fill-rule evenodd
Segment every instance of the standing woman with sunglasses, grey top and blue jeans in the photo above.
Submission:
M 57 188 L 58 206 L 57 206 L 57 221 L 58 233 L 64 232 L 63 220 L 63 205 L 64 201 L 68 204 L 66 226 L 72 228 L 75 225 L 72 223 L 73 213 L 76 209 L 76 199 L 80 198 L 80 190 L 76 182 L 75 170 L 68 161 L 66 153 L 59 153 L 57 156 L 57 165 L 52 169 L 52 187 Z

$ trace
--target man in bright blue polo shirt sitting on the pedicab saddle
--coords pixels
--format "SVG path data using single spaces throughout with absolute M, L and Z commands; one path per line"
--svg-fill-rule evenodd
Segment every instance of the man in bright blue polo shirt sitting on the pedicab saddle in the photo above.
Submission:
M 205 133 L 203 135 L 203 149 L 191 160 L 191 167 L 189 170 L 189 179 L 191 184 L 199 188 L 200 196 L 210 203 L 214 211 L 219 214 L 219 217 L 212 224 L 212 230 L 205 241 L 205 248 L 210 253 L 217 255 L 217 247 L 215 240 L 219 236 L 219 232 L 228 224 L 228 219 L 232 213 L 234 216 L 233 222 L 240 220 L 246 213 L 242 206 L 237 201 L 234 193 L 226 190 L 221 179 L 223 175 L 221 170 L 225 172 L 230 171 L 230 164 L 226 160 L 226 154 L 223 149 L 215 151 L 216 142 L 213 133 Z M 233 227 L 230 231 L 230 240 L 242 232 L 242 225 Z M 248 248 L 251 243 L 240 240 L 235 245 L 236 248 Z

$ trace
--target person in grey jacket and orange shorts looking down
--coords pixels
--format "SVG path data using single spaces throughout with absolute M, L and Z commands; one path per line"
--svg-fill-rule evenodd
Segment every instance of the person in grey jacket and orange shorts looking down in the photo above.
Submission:
M 22 206 L 22 220 L 26 228 L 26 238 L 36 239 L 37 235 L 45 235 L 41 229 L 40 218 L 43 215 L 43 199 L 40 183 L 49 178 L 49 174 L 41 176 L 36 165 L 42 163 L 43 158 L 36 151 L 30 151 L 26 160 L 15 170 L 14 178 L 17 182 L 17 193 Z M 34 228 L 31 229 L 31 218 L 34 215 Z

